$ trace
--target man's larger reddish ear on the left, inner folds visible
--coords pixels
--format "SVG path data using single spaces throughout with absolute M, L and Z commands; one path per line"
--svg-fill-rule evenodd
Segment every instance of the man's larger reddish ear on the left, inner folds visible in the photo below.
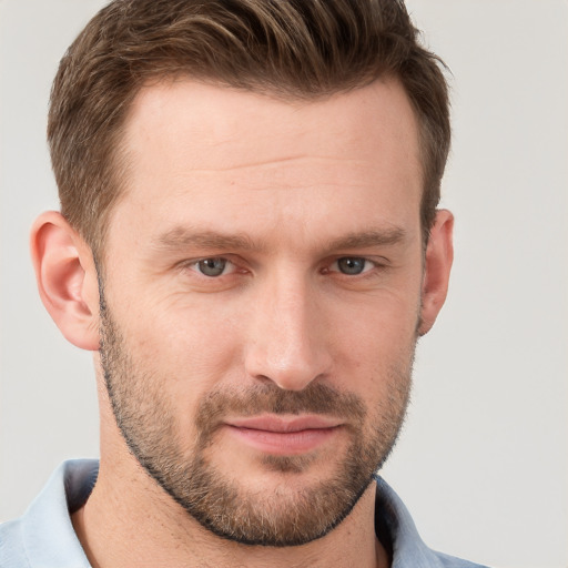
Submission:
M 43 305 L 64 337 L 99 349 L 99 285 L 90 247 L 55 211 L 33 223 L 31 256 Z

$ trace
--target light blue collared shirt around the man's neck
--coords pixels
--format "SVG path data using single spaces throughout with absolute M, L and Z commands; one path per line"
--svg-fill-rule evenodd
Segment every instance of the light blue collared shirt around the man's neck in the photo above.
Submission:
M 71 524 L 71 514 L 91 494 L 99 463 L 63 463 L 19 519 L 0 525 L 1 568 L 91 568 Z M 430 550 L 403 501 L 377 478 L 375 527 L 389 551 L 392 568 L 483 568 Z

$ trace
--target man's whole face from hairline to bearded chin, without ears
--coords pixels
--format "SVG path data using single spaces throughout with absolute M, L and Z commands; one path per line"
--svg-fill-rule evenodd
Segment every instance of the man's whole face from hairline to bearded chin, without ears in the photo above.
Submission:
M 403 89 L 300 103 L 163 83 L 135 100 L 124 144 L 101 302 L 124 438 L 217 535 L 323 536 L 407 404 L 423 248 Z

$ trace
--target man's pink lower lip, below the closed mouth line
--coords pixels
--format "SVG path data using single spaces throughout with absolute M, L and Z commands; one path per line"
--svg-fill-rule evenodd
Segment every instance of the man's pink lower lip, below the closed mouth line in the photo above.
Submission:
M 335 436 L 339 429 L 314 428 L 297 432 L 272 432 L 227 426 L 229 432 L 246 445 L 277 456 L 304 454 L 316 449 Z

